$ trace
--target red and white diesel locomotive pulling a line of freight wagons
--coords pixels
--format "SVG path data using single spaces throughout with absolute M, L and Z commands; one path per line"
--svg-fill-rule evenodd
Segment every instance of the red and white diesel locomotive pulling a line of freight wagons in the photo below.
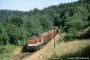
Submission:
M 57 26 L 52 30 L 42 33 L 41 35 L 35 34 L 27 39 L 27 51 L 36 51 L 47 44 L 52 38 L 55 37 L 59 32 Z

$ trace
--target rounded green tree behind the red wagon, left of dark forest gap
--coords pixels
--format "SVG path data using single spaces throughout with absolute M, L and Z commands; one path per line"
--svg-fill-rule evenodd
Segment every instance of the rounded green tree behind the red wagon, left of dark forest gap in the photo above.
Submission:
M 43 26 L 43 30 L 47 31 L 51 29 L 51 27 L 53 26 L 54 20 L 51 16 L 45 14 L 40 17 L 40 22 L 41 22 L 41 25 Z

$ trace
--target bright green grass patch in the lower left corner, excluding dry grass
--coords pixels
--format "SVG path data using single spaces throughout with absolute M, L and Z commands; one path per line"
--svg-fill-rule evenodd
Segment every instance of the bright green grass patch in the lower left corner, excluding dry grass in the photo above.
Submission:
M 14 45 L 0 45 L 0 60 L 9 60 L 14 55 L 16 47 Z

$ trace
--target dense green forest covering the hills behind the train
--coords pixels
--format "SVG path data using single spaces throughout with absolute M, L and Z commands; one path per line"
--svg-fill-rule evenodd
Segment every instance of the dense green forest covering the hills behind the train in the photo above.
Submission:
M 90 0 L 60 3 L 26 12 L 0 10 L 0 45 L 18 45 L 19 40 L 24 46 L 28 37 L 48 31 L 54 25 L 66 32 L 65 41 L 77 38 L 77 32 L 90 26 Z

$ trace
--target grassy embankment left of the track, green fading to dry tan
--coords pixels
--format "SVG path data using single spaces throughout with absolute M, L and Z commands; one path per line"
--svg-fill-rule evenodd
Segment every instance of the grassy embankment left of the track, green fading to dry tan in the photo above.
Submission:
M 22 47 L 15 45 L 0 45 L 0 60 L 9 60 L 22 53 Z

